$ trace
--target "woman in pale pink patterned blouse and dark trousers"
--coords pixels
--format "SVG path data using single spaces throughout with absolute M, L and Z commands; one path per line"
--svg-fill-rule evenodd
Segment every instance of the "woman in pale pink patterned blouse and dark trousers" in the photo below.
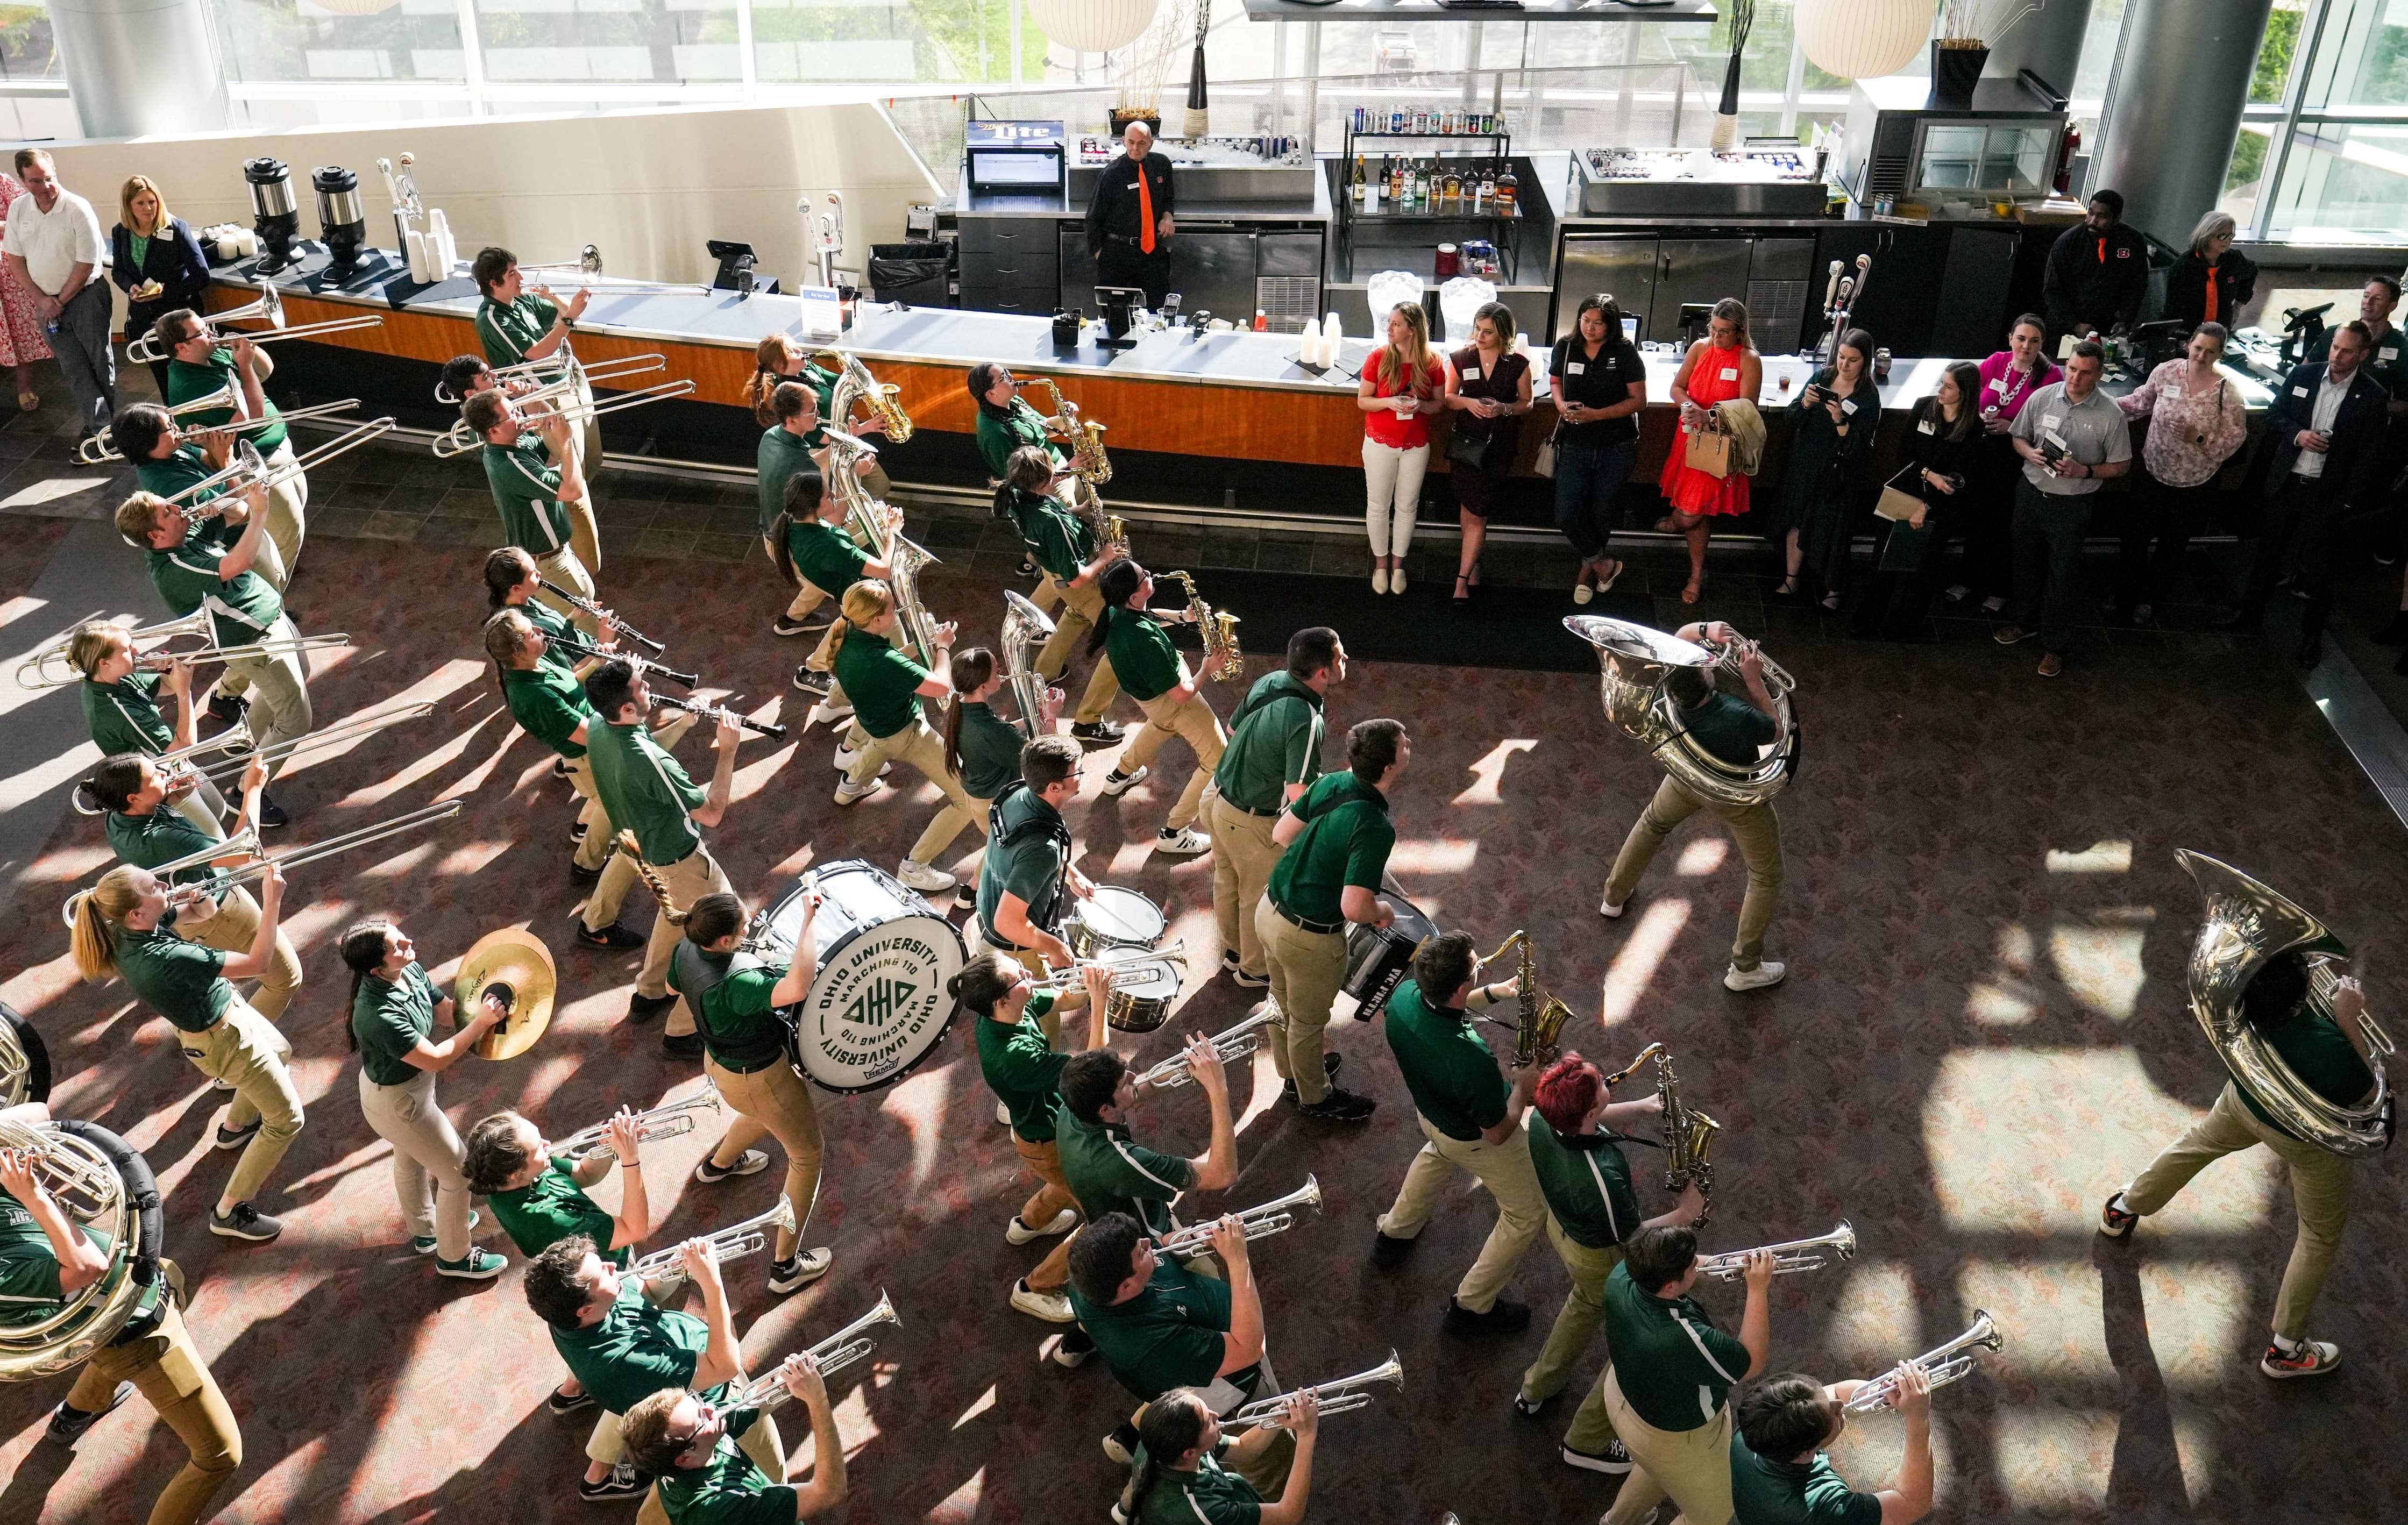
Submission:
M 2148 624 L 2153 602 L 2165 597 L 2182 552 L 2215 504 L 2215 472 L 2249 438 L 2242 398 L 2215 366 L 2225 359 L 2225 325 L 2201 323 L 2184 359 L 2148 373 L 2129 398 L 2117 398 L 2124 417 L 2148 419 L 2141 465 L 2124 511 L 2124 549 L 2114 564 L 2114 605 L 2131 624 Z M 2150 554 L 2150 540 L 2158 552 Z

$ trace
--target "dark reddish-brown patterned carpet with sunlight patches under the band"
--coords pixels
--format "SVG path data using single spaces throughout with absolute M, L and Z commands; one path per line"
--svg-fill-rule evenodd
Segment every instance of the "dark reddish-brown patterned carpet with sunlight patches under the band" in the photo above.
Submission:
M 12 530 L 0 588 L 19 593 L 51 542 L 43 525 Z M 621 1024 L 633 959 L 566 947 L 568 795 L 508 725 L 477 660 L 477 561 L 472 547 L 327 535 L 294 588 L 303 629 L 344 629 L 356 643 L 318 667 L 323 720 L 402 696 L 438 711 L 299 769 L 279 788 L 296 819 L 289 838 L 441 795 L 467 809 L 436 836 L 296 877 L 289 925 L 308 985 L 284 1026 L 311 1111 L 262 1202 L 289 1221 L 279 1246 L 205 1231 L 231 1164 L 207 1149 L 209 1094 L 164 1021 L 67 968 L 55 906 L 108 860 L 92 822 L 60 826 L 0 930 L 0 993 L 48 1036 L 58 1101 L 135 1140 L 166 1183 L 169 1246 L 195 1286 L 190 1323 L 243 1421 L 224 1520 L 590 1520 L 626 1508 L 576 1498 L 588 1424 L 542 1409 L 556 1361 L 520 1299 L 515 1255 L 498 1284 L 458 1284 L 407 1253 L 388 1149 L 359 1120 L 342 1038 L 332 942 L 352 918 L 400 918 L 429 959 L 445 959 L 438 976 L 484 930 L 527 920 L 559 949 L 563 1012 L 535 1053 L 445 1074 L 455 1120 L 518 1103 L 566 1132 L 694 1079 L 650 1031 Z M 1654 571 L 1676 585 L 1676 569 Z M 669 641 L 669 660 L 799 720 L 783 703 L 799 643 L 761 634 L 778 590 L 759 557 L 653 564 L 614 547 L 602 585 Z M 929 602 L 990 636 L 992 588 L 946 573 Z M 1283 634 L 1262 624 L 1250 624 L 1257 638 Z M 2254 643 L 2150 634 L 2042 684 L 2028 653 L 1972 634 L 1866 648 L 1813 619 L 1780 624 L 1775 655 L 1799 677 L 1811 725 L 1806 771 L 1780 802 L 1789 887 L 1767 952 L 1792 961 L 1784 988 L 1734 997 L 1717 983 L 1741 870 L 1710 826 L 1671 843 L 1628 920 L 1594 915 L 1604 865 L 1657 773 L 1609 732 L 1587 675 L 1356 670 L 1332 699 L 1334 725 L 1394 713 L 1416 737 L 1394 800 L 1399 879 L 1483 944 L 1531 928 L 1544 978 L 1582 1012 L 1572 1041 L 1599 1060 L 1621 1062 L 1649 1038 L 1674 1048 L 1688 1096 L 1724 1123 L 1712 1248 L 1852 1219 L 1864 1246 L 1852 1265 L 1780 1284 L 1777 1366 L 1866 1376 L 1955 1335 L 1975 1308 L 1999 1318 L 2006 1354 L 1936 1400 L 1938 1518 L 2396 1518 L 2408 1465 L 2382 1441 L 2396 1436 L 2408 1344 L 2408 1289 L 2386 1253 L 2403 1207 L 2396 1168 L 2360 1168 L 2360 1224 L 2316 1327 L 2348 1364 L 2314 1385 L 2254 1368 L 2290 1243 L 2271 1161 L 2218 1166 L 2129 1246 L 2090 1233 L 2100 1197 L 2220 1084 L 2179 1005 L 2196 901 L 2172 850 L 2227 858 L 2331 915 L 2372 952 L 2377 1009 L 2396 1012 L 2389 949 L 2408 935 L 2396 822 Z M 1228 691 L 1214 699 L 1226 713 Z M 831 858 L 891 867 L 934 807 L 913 778 L 838 819 L 828 744 L 826 730 L 746 740 L 713 846 L 749 896 Z M 701 742 L 684 754 L 696 773 L 708 766 Z M 1086 800 L 1072 826 L 1088 875 L 1163 901 L 1175 932 L 1209 954 L 1209 860 L 1146 850 L 1185 769 L 1173 749 L 1165 781 Z M 628 911 L 638 928 L 643 899 Z M 1226 1026 L 1243 995 L 1192 983 L 1173 1026 L 1132 1043 L 1134 1055 Z M 1594 1026 L 1599 1009 L 1611 1031 Z M 1464 1180 L 1406 1270 L 1370 1270 L 1368 1219 L 1418 1132 L 1380 1036 L 1332 1031 L 1348 1084 L 1380 1099 L 1377 1118 L 1320 1132 L 1269 1108 L 1269 1065 L 1240 1065 L 1243 1180 L 1226 1193 L 1228 1205 L 1255 1202 L 1305 1171 L 1327 1193 L 1322 1219 L 1257 1255 L 1283 1380 L 1358 1371 L 1389 1347 L 1406 1368 L 1404 1395 L 1382 1390 L 1370 1412 L 1329 1421 L 1312 1518 L 1594 1518 L 1611 1484 L 1553 1460 L 1570 1397 L 1541 1421 L 1507 1407 L 1563 1296 L 1560 1267 L 1544 1246 L 1522 1262 L 1512 1296 L 1539 1311 L 1529 1335 L 1483 1344 L 1440 1332 L 1493 1217 Z M 1035 1260 L 1002 1241 L 1026 1185 L 963 1034 L 889 1091 L 821 1096 L 821 1115 L 831 1159 L 809 1241 L 833 1246 L 836 1272 L 787 1301 L 761 1289 L 759 1262 L 732 1282 L 754 1361 L 855 1318 L 881 1286 L 893 1294 L 905 1327 L 881 1337 L 874 1376 L 840 1395 L 855 1479 L 840 1518 L 1100 1520 L 1112 1467 L 1096 1438 L 1127 1402 L 1100 1364 L 1038 1364 L 1047 1330 L 1004 1308 L 1011 1277 Z M 1194 1094 L 1149 1103 L 1141 1137 L 1199 1149 Z M 665 1144 L 650 1166 L 660 1241 L 759 1212 L 773 1190 L 775 1176 L 694 1185 L 686 1171 L 706 1142 Z M 1647 1200 L 1657 1209 L 1652 1185 Z M 496 1243 L 491 1229 L 486 1238 Z M 1734 1291 L 1707 1301 L 1736 1320 Z M 0 1388 L 0 1467 L 12 1470 L 0 1520 L 140 1520 L 178 1460 L 173 1438 L 135 1402 L 72 1455 L 36 1445 L 63 1390 Z M 795 1424 L 787 1438 L 799 1438 Z M 1842 1470 L 1893 1479 L 1895 1438 L 1895 1421 L 1859 1424 Z

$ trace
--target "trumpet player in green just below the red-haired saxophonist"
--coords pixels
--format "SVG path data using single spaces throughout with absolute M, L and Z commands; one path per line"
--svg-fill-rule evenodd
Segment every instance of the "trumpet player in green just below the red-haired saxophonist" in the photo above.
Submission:
M 1688 1296 L 1698 1284 L 1690 1229 L 1640 1229 L 1606 1277 L 1606 1349 L 1587 1405 L 1601 1402 L 1630 1450 L 1630 1477 L 1601 1525 L 1637 1525 L 1669 1494 L 1686 1520 L 1731 1518 L 1731 1388 L 1772 1352 L 1772 1255 L 1748 1255 L 1739 1337 Z M 1575 1431 L 1580 1421 L 1575 1419 Z

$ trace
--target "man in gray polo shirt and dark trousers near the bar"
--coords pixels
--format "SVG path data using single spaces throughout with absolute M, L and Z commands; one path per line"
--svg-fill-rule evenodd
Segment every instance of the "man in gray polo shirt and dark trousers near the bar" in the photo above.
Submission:
M 2032 393 L 2015 414 L 2015 602 L 1991 636 L 2013 646 L 2040 636 L 2040 677 L 2066 670 L 2073 610 L 2083 585 L 2083 537 L 2090 496 L 2100 482 L 2131 470 L 2131 426 L 2100 390 L 2107 352 L 2081 342 L 2066 357 L 2066 378 Z M 2035 629 L 2037 619 L 2037 629 Z

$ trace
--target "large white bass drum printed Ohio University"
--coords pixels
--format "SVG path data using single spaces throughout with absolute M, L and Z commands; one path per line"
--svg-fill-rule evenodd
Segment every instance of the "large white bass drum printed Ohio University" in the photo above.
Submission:
M 821 896 L 811 923 L 819 976 L 780 1012 L 785 1055 L 831 1091 L 891 1087 L 934 1053 L 961 1009 L 946 995 L 966 964 L 961 932 L 915 889 L 850 858 L 804 875 L 754 920 L 746 944 L 771 961 L 792 959 L 811 889 Z

